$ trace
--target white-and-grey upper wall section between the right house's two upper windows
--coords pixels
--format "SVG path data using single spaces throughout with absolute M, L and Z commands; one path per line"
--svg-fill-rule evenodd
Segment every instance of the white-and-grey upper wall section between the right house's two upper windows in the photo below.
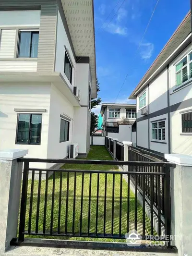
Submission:
M 149 84 L 149 111 L 153 113 L 168 107 L 167 68 Z

